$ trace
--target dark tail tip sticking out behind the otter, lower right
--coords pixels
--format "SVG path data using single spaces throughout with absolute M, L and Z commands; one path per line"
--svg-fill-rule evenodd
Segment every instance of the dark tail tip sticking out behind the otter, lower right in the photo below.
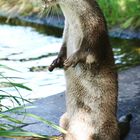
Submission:
M 130 131 L 130 122 L 132 120 L 132 114 L 122 116 L 119 119 L 120 139 L 123 140 Z

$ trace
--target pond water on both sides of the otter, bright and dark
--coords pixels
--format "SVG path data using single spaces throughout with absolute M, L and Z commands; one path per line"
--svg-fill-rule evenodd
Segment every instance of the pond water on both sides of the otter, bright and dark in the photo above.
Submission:
M 17 92 L 15 88 L 2 84 L 1 90 L 15 96 L 20 93 L 23 98 L 32 100 L 64 91 L 63 70 L 47 71 L 47 66 L 56 57 L 61 43 L 61 38 L 48 32 L 42 34 L 35 28 L 0 25 L 0 64 L 20 71 L 0 67 L 0 72 L 5 77 L 13 77 L 8 80 L 24 83 L 32 91 L 18 88 Z M 119 69 L 140 64 L 140 40 L 111 39 L 111 43 Z M 0 81 L 7 82 L 7 79 L 1 78 Z M 4 102 L 8 104 L 7 100 Z

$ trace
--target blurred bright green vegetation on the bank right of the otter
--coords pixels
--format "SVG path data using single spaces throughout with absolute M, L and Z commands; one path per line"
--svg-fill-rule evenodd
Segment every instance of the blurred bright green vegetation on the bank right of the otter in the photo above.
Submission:
M 110 25 L 140 28 L 139 0 L 98 0 Z

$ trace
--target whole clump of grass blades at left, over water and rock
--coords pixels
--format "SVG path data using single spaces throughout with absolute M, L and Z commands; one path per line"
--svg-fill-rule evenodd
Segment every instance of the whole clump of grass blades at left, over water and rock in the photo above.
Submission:
M 17 71 L 12 68 L 9 68 L 5 65 L 0 64 L 0 68 Z M 57 126 L 53 122 L 50 122 L 40 116 L 27 113 L 27 109 L 34 108 L 34 106 L 26 106 L 26 103 L 31 103 L 27 99 L 23 99 L 18 91 L 18 88 L 22 88 L 25 90 L 31 91 L 29 87 L 24 86 L 22 83 L 11 82 L 12 77 L 6 77 L 3 75 L 3 72 L 0 72 L 0 88 L 2 87 L 13 87 L 15 92 L 19 93 L 19 96 L 13 96 L 10 93 L 4 91 L 4 89 L 0 89 L 0 137 L 8 137 L 8 138 L 37 138 L 38 140 L 46 139 L 46 140 L 57 140 L 59 137 L 57 136 L 47 136 L 41 135 L 29 131 L 25 131 L 22 129 L 24 126 L 30 125 L 30 123 L 24 122 L 24 119 L 17 119 L 15 115 L 22 115 L 23 118 L 31 117 L 36 119 L 39 122 L 42 122 L 52 128 L 58 130 L 61 133 L 66 134 L 67 132 L 61 127 Z M 3 82 L 4 81 L 4 82 Z M 7 81 L 7 82 L 5 82 Z M 7 102 L 3 102 L 6 100 L 7 102 L 11 102 L 13 106 L 7 105 Z M 15 107 L 15 103 L 16 106 Z M 32 124 L 32 123 L 31 123 Z

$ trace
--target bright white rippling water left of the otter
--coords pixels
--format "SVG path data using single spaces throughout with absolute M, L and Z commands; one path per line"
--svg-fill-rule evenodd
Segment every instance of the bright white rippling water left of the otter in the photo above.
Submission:
M 60 49 L 61 42 L 61 38 L 40 34 L 31 27 L 0 25 L 0 64 L 20 71 L 16 72 L 1 68 L 0 72 L 4 72 L 3 75 L 5 77 L 15 77 L 10 79 L 10 81 L 25 83 L 26 86 L 33 90 L 19 89 L 23 98 L 42 98 L 62 92 L 65 90 L 63 70 L 55 70 L 53 72 L 29 71 L 34 66 L 49 65 L 56 56 L 20 61 L 56 53 Z M 7 80 L 2 79 L 1 81 Z M 3 87 L 1 90 L 12 95 L 19 95 L 14 88 Z

